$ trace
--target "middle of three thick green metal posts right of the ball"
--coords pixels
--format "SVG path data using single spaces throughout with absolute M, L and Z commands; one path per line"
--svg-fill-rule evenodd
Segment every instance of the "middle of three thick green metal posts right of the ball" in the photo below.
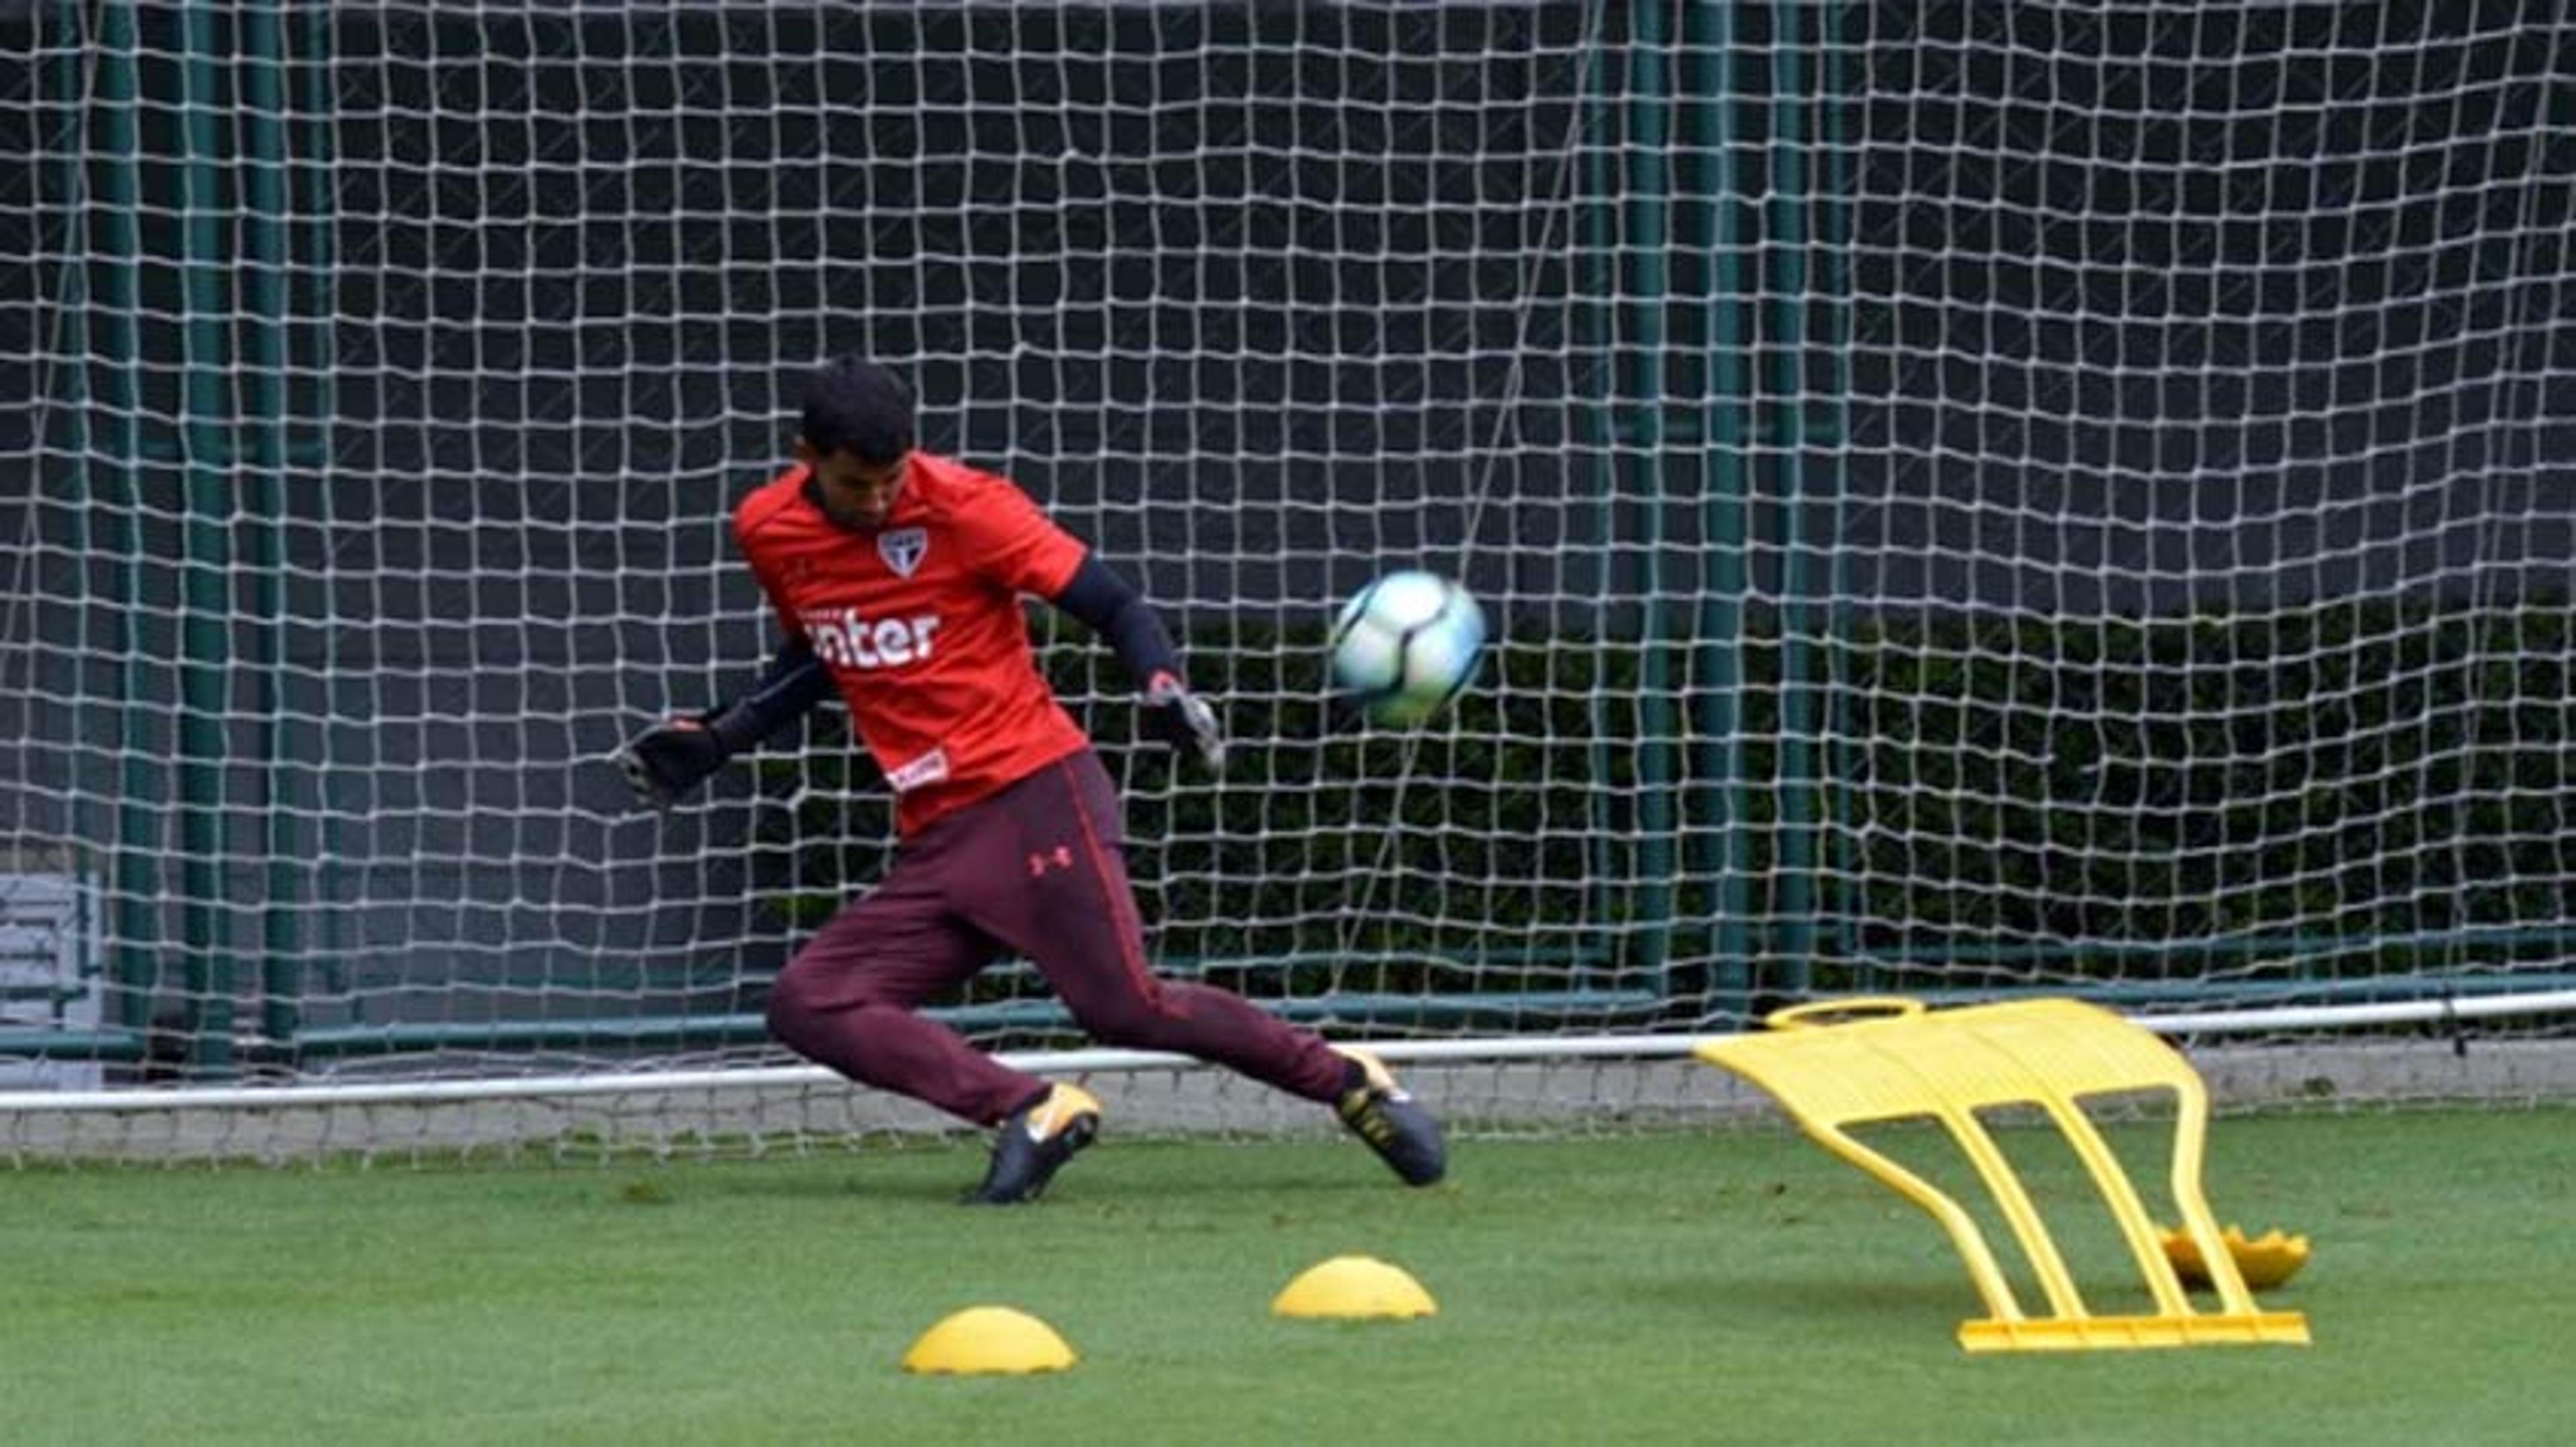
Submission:
M 1692 167 L 1698 185 L 1700 299 L 1705 306 L 1708 384 L 1700 397 L 1700 528 L 1708 561 L 1700 574 L 1700 726 L 1703 821 L 1692 873 L 1716 881 L 1708 953 L 1713 989 L 1726 1014 L 1752 1009 L 1752 808 L 1744 778 L 1744 275 L 1736 265 L 1734 165 L 1734 10 L 1726 0 L 1698 8 L 1700 64 L 1692 88 Z

